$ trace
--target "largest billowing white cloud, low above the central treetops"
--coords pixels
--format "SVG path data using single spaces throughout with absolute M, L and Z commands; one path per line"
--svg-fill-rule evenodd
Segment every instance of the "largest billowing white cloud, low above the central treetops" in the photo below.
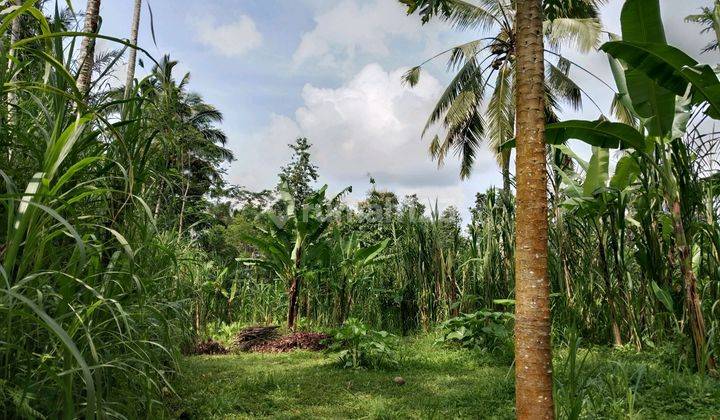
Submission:
M 289 157 L 286 144 L 302 135 L 313 143 L 321 182 L 331 189 L 353 185 L 358 198 L 370 174 L 380 187 L 400 195 L 417 193 L 425 202 L 438 198 L 441 207 L 462 208 L 469 197 L 456 161 L 449 158 L 438 170 L 428 156 L 428 139 L 420 138 L 443 86 L 427 73 L 415 88 L 404 86 L 405 70 L 388 72 L 370 64 L 337 88 L 306 85 L 294 118 L 273 116 L 268 126 L 248 138 L 251 144 L 240 146 L 250 154 L 238 154 L 235 167 L 245 170 L 236 173 L 233 182 L 255 189 L 273 187 L 279 167 Z M 477 190 L 499 180 L 486 150 L 479 153 L 475 172 L 472 182 Z

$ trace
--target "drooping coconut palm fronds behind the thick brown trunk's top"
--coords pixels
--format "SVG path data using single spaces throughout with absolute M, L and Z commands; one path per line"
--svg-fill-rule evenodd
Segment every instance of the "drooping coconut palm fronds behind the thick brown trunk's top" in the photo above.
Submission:
M 479 29 L 490 36 L 455 46 L 413 67 L 405 81 L 415 85 L 421 68 L 431 60 L 449 54 L 448 68 L 457 70 L 428 118 L 423 136 L 441 123 L 444 138 L 436 135 L 430 154 L 442 165 L 448 152 L 460 157 L 460 175 L 470 175 L 478 148 L 484 142 L 502 168 L 503 187 L 510 190 L 510 150 L 501 150 L 515 137 L 515 95 L 517 12 L 515 0 L 400 0 L 410 13 L 416 10 L 427 22 L 433 14 L 460 29 Z M 557 49 L 570 43 L 581 51 L 599 45 L 602 26 L 598 6 L 605 0 L 545 0 L 541 32 Z M 558 99 L 574 108 L 582 105 L 582 89 L 568 76 L 570 62 L 553 51 L 546 59 L 547 116 L 555 118 Z M 488 90 L 489 101 L 485 102 Z

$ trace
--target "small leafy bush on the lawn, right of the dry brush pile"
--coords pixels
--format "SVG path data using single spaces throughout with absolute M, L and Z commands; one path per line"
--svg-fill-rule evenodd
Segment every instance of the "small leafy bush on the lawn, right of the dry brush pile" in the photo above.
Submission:
M 361 321 L 350 318 L 340 327 L 328 349 L 336 352 L 343 368 L 378 369 L 399 365 L 395 336 L 368 329 Z

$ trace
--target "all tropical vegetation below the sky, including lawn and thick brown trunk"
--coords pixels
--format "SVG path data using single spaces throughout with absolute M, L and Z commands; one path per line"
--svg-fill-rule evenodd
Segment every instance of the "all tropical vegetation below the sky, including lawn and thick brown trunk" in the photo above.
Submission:
M 331 193 L 308 138 L 274 189 L 229 184 L 222 112 L 136 45 L 140 0 L 130 40 L 101 6 L 0 1 L 1 418 L 720 413 L 720 79 L 693 58 L 720 2 L 683 51 L 659 0 L 621 34 L 601 0 L 401 0 L 477 34 L 433 57 L 424 127 L 461 178 L 496 157 L 469 220 L 372 177 Z M 566 49 L 604 55 L 612 103 Z M 243 352 L 249 326 L 326 350 Z

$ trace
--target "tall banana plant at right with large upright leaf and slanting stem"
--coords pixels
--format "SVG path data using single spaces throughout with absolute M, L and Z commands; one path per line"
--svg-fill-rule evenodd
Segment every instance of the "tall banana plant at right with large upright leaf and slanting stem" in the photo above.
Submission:
M 678 184 L 677 150 L 693 112 L 720 119 L 720 81 L 707 65 L 698 64 L 667 44 L 658 0 L 627 0 L 621 14 L 622 41 L 605 43 L 601 50 L 619 61 L 611 66 L 625 108 L 645 134 L 641 158 L 657 168 L 673 225 L 674 254 L 679 259 L 698 370 L 715 368 L 707 357 L 707 333 L 697 279 L 692 270 L 691 244 L 683 223 L 682 191 Z M 612 61 L 611 61 L 612 64 Z M 628 100 L 629 99 L 629 100 Z M 563 123 L 561 123 L 563 124 Z M 622 123 L 617 123 L 622 124 Z M 624 124 L 622 124 L 624 125 Z M 629 125 L 625 129 L 630 129 Z M 587 129 L 560 133 L 557 142 L 576 138 L 590 143 L 609 130 Z M 592 143 L 591 143 L 592 144 Z M 657 159 L 656 161 L 656 157 Z

